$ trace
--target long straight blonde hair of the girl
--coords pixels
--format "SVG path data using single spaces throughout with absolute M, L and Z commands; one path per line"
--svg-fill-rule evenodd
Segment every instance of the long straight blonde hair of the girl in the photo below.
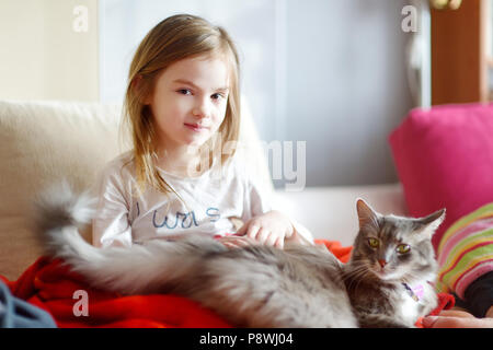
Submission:
M 150 185 L 164 194 L 175 192 L 154 165 L 158 156 L 157 132 L 150 106 L 144 103 L 152 94 L 157 77 L 181 59 L 217 54 L 223 55 L 230 66 L 226 116 L 218 129 L 221 144 L 227 144 L 228 141 L 238 140 L 240 126 L 240 63 L 228 33 L 202 18 L 177 14 L 158 23 L 137 48 L 128 73 L 124 120 L 133 139 L 137 184 L 140 190 Z M 234 150 L 227 154 L 221 151 L 219 154 L 221 162 L 226 162 L 234 154 Z

